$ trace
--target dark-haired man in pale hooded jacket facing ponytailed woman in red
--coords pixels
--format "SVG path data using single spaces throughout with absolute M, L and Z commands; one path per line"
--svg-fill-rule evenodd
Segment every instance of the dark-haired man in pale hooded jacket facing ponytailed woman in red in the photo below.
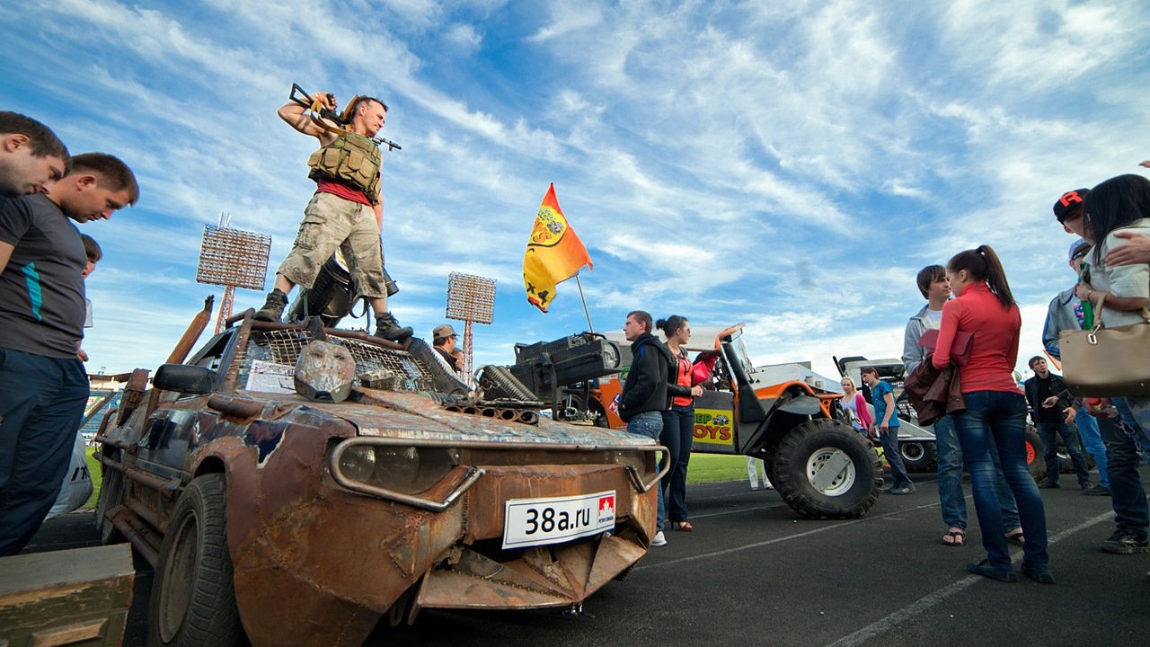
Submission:
M 942 322 L 942 306 L 950 299 L 950 282 L 946 281 L 946 268 L 941 265 L 928 265 L 919 271 L 917 277 L 919 291 L 927 299 L 927 305 L 906 322 L 903 335 L 903 364 L 910 374 L 922 364 L 927 352 L 919 343 L 927 330 L 937 330 Z M 963 448 L 958 444 L 958 434 L 950 416 L 942 417 L 934 424 L 935 449 L 938 452 L 938 502 L 941 503 L 942 523 L 946 524 L 946 534 L 942 536 L 944 546 L 963 546 L 966 541 L 966 495 L 963 494 Z M 998 452 L 994 447 L 990 455 L 998 463 Z M 1002 472 L 999 470 L 999 472 Z M 1003 525 L 1006 539 L 1018 541 L 1022 536 L 1021 523 L 1018 519 L 1018 507 L 1011 494 L 1006 479 L 998 475 L 998 503 L 1002 508 Z

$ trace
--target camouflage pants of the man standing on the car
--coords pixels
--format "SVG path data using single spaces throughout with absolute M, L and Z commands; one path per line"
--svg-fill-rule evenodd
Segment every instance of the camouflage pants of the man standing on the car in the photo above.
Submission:
M 344 252 L 347 272 L 359 294 L 367 298 L 385 296 L 383 245 L 375 211 L 331 193 L 316 193 L 304 208 L 296 243 L 276 274 L 292 283 L 310 288 L 320 267 L 336 249 Z

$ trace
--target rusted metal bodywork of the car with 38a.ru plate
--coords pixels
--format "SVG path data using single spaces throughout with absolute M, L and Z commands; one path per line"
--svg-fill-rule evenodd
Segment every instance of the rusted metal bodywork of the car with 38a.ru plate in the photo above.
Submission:
M 299 337 L 292 343 L 306 340 L 296 327 L 270 328 Z M 146 522 L 163 532 L 174 501 L 161 492 L 224 471 L 236 602 L 256 647 L 359 645 L 381 614 L 408 600 L 409 618 L 422 607 L 575 607 L 650 546 L 653 451 L 662 450 L 650 439 L 550 419 L 524 424 L 519 413 L 528 409 L 490 403 L 483 406 L 492 416 L 448 411 L 443 397 L 412 390 L 352 387 L 343 402 L 235 390 L 248 350 L 267 343 L 252 329 L 248 313 L 233 342 L 227 334 L 212 342 L 228 360 L 220 391 L 153 390 L 146 414 L 137 411 L 107 435 L 121 469 L 150 473 L 126 481 L 117 527 L 135 532 Z M 377 345 L 371 353 L 401 352 Z M 267 357 L 268 348 L 260 352 Z M 367 452 L 367 471 L 352 462 L 344 472 L 345 448 Z M 419 470 L 434 466 L 432 475 L 400 482 L 376 471 L 384 470 L 376 460 L 397 455 Z M 611 532 L 501 547 L 508 501 L 608 492 Z

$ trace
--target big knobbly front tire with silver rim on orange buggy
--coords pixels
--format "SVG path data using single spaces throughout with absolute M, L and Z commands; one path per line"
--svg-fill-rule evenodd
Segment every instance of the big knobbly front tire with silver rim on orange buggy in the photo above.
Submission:
M 882 465 L 850 425 L 818 418 L 795 426 L 774 451 L 772 482 L 811 519 L 853 519 L 879 501 Z

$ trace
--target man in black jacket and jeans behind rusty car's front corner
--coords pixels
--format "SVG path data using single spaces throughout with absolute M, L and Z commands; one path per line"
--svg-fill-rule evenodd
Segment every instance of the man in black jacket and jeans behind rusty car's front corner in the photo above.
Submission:
M 654 321 L 647 312 L 635 310 L 627 314 L 623 336 L 631 342 L 631 367 L 619 398 L 619 417 L 627 423 L 629 433 L 658 441 L 659 434 L 662 433 L 662 412 L 670 409 L 667 374 L 675 358 L 670 350 L 651 334 L 653 326 Z M 664 525 L 667 523 L 662 487 L 658 487 L 658 524 L 651 546 L 667 543 L 662 534 Z

